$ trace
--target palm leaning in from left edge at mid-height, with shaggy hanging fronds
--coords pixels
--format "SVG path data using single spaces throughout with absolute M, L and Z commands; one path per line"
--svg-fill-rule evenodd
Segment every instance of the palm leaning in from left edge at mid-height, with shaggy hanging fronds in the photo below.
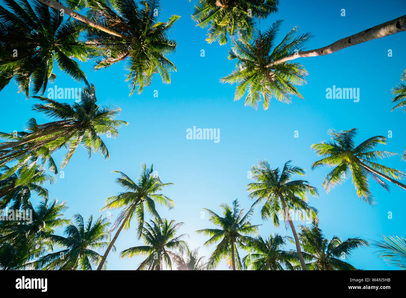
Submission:
M 39 96 L 36 98 L 45 104 L 37 103 L 33 110 L 40 111 L 56 121 L 37 124 L 35 119 L 31 119 L 28 122 L 28 133 L 20 132 L 17 136 L 13 133 L 1 133 L 2 138 L 19 140 L 0 143 L 0 161 L 12 161 L 44 146 L 50 152 L 67 146 L 68 152 L 62 162 L 62 167 L 65 167 L 79 144 L 84 146 L 89 157 L 92 151 L 100 151 L 105 159 L 108 159 L 108 150 L 99 135 L 117 137 L 118 128 L 128 124 L 122 120 L 114 120 L 121 111 L 119 107 L 100 107 L 96 104 L 93 84 L 85 87 L 81 92 L 80 101 L 73 104 L 58 103 Z M 6 150 L 9 148 L 13 150 Z

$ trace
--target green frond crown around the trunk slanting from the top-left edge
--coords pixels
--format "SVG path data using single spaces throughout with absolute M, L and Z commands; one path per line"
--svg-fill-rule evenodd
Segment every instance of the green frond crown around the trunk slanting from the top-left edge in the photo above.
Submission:
M 144 86 L 151 84 L 154 73 L 159 73 L 162 82 L 171 82 L 170 72 L 176 71 L 175 65 L 166 55 L 175 52 L 176 41 L 168 38 L 170 28 L 179 16 L 173 15 L 166 23 L 158 21 L 161 10 L 159 1 L 114 0 L 114 8 L 104 1 L 91 1 L 91 13 L 97 15 L 95 21 L 129 37 L 124 41 L 120 37 L 89 27 L 88 43 L 102 50 L 103 57 L 96 61 L 95 69 L 127 60 L 129 71 L 127 81 L 131 93 L 138 93 Z

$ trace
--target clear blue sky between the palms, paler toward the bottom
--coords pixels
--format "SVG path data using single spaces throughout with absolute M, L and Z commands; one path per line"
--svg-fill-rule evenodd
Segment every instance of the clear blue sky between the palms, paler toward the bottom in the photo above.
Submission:
M 234 61 L 227 60 L 230 43 L 223 46 L 206 43 L 206 30 L 195 26 L 190 18 L 193 2 L 162 1 L 164 10 L 160 21 L 173 14 L 181 16 L 172 28 L 177 53 L 170 59 L 177 66 L 177 72 L 172 74 L 171 84 L 162 84 L 158 75 L 142 94 L 128 96 L 130 90 L 124 81 L 123 63 L 97 72 L 91 69 L 91 62 L 82 63 L 89 82 L 96 86 L 99 103 L 120 106 L 119 119 L 129 125 L 120 130 L 117 139 L 104 137 L 110 152 L 108 161 L 104 161 L 101 154 L 89 160 L 85 150 L 79 148 L 64 169 L 65 178 L 57 176 L 56 184 L 48 187 L 50 197 L 67 201 L 70 207 L 67 217 L 75 213 L 86 218 L 90 214 L 106 215 L 99 212 L 104 200 L 121 190 L 115 183 L 117 174 L 111 171 L 120 170 L 136 179 L 140 163 L 153 163 L 163 182 L 174 183 L 164 192 L 175 201 L 176 207 L 170 211 L 159 208 L 160 214 L 184 222 L 180 232 L 190 235 L 190 247 L 200 246 L 200 253 L 209 256 L 215 247 L 204 247 L 207 237 L 194 233 L 197 229 L 212 227 L 207 216 L 201 219 L 202 208 L 220 212 L 221 203 L 231 204 L 235 198 L 249 208 L 252 202 L 245 190 L 246 184 L 251 182 L 247 178 L 251 166 L 259 159 L 268 160 L 272 167 L 282 167 L 292 160 L 294 165 L 307 170 L 305 179 L 320 191 L 320 197 L 311 197 L 309 202 L 319 210 L 320 227 L 327 238 L 338 235 L 342 239 L 377 240 L 379 234 L 405 237 L 404 190 L 391 185 L 391 193 L 388 193 L 371 182 L 377 202 L 373 207 L 358 199 L 350 180 L 327 194 L 322 182 L 330 169 L 311 171 L 310 165 L 317 157 L 310 146 L 328 139 L 327 131 L 331 128 L 356 127 L 359 129 L 357 143 L 374 135 L 387 136 L 388 131 L 392 131 L 389 144 L 379 149 L 403 152 L 406 115 L 400 110 L 391 112 L 390 89 L 400 83 L 400 75 L 406 67 L 406 33 L 327 56 L 297 59 L 309 71 L 308 84 L 298 87 L 304 100 L 294 97 L 289 105 L 272 100 L 267 111 L 261 106 L 255 111 L 244 107 L 243 99 L 233 101 L 235 86 L 219 82 L 235 65 Z M 281 1 L 279 13 L 262 20 L 261 28 L 266 30 L 275 20 L 284 19 L 280 38 L 299 26 L 300 33 L 312 32 L 315 36 L 307 45 L 308 49 L 315 49 L 404 15 L 406 11 L 403 0 L 389 1 L 385 5 L 376 0 L 332 2 L 314 1 L 309 5 L 305 1 Z M 341 9 L 346 9 L 345 17 L 341 17 Z M 201 49 L 205 50 L 205 57 L 201 57 Z M 393 51 L 392 57 L 388 57 L 389 49 Z M 58 69 L 54 72 L 58 87 L 81 87 Z M 333 85 L 359 88 L 360 101 L 326 99 L 326 88 Z M 158 90 L 158 97 L 153 96 L 154 90 Z M 17 94 L 13 83 L 0 92 L 0 98 L 4 108 L 1 131 L 20 131 L 31 117 L 37 118 L 39 123 L 47 121 L 31 111 L 35 99 L 26 100 L 23 94 Z M 193 126 L 220 129 L 220 142 L 186 139 L 186 129 Z M 296 130 L 298 138 L 294 138 Z M 61 161 L 64 154 L 60 150 L 54 159 Z M 406 171 L 406 163 L 400 161 L 400 157 L 391 157 L 382 163 Z M 33 203 L 37 201 L 33 199 Z M 392 219 L 388 219 L 388 212 L 393 213 Z M 118 210 L 112 211 L 113 220 L 118 213 Z M 252 222 L 263 223 L 260 229 L 263 237 L 271 232 L 292 236 L 290 229 L 285 230 L 283 225 L 275 229 L 271 222 L 262 222 L 259 208 Z M 132 228 L 120 234 L 117 252 L 110 252 L 108 256 L 108 269 L 135 269 L 142 260 L 140 257 L 121 260 L 118 255 L 124 249 L 142 245 L 136 240 L 135 228 L 132 222 Z M 294 249 L 294 246 L 289 248 Z M 350 263 L 366 270 L 396 269 L 385 265 L 374 251 L 373 248 L 358 249 Z M 219 269 L 225 268 L 223 262 Z

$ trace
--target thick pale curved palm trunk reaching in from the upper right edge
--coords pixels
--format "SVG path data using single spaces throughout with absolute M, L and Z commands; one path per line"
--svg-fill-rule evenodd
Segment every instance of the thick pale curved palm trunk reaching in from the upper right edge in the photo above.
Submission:
M 299 51 L 295 54 L 275 60 L 274 62 L 267 64 L 266 67 L 296 58 L 328 55 L 352 45 L 358 45 L 359 43 L 365 43 L 365 41 L 378 39 L 402 31 L 406 31 L 406 15 L 340 39 L 339 41 L 336 41 L 335 43 L 332 43 L 326 47 L 309 51 Z

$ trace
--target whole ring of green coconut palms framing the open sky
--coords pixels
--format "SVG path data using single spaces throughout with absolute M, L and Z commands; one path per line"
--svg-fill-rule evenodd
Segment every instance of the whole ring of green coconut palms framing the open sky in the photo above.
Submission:
M 221 206 L 222 216 L 205 209 L 216 228 L 197 233 L 210 236 L 205 245 L 218 243 L 207 261 L 199 257 L 198 249 L 188 247 L 184 240 L 187 235 L 177 234 L 182 223 L 162 219 L 156 211 L 156 204 L 166 208 L 173 208 L 174 204 L 162 193 L 171 183 L 161 182 L 152 166 L 143 165 L 137 181 L 117 171 L 117 183 L 123 192 L 109 197 L 102 209 L 121 210 L 114 223 L 103 217 L 94 221 L 90 216 L 85 224 L 80 214 L 73 221 L 66 219 L 65 202 L 51 202 L 44 187 L 45 183 L 54 182 L 45 167 L 53 174 L 58 173 L 52 154 L 67 148 L 61 168 L 67 165 L 79 145 L 89 157 L 93 151 L 108 159 L 102 136 L 117 137 L 119 128 L 127 124 L 115 119 L 121 111 L 119 107 L 97 104 L 95 86 L 87 81 L 74 59 L 92 59 L 96 70 L 125 61 L 130 94 L 135 90 L 141 93 L 151 84 L 155 73 L 160 74 L 164 83 L 170 83 L 170 73 L 176 67 L 167 56 L 175 52 L 177 43 L 168 34 L 179 16 L 158 21 L 161 9 L 158 0 L 4 2 L 6 7 L 0 5 L 0 90 L 14 79 L 19 92 L 27 97 L 34 94 L 32 97 L 38 103 L 33 110 L 43 113 L 49 122 L 38 124 L 31 118 L 24 131 L 0 133 L 5 140 L 0 143 L 0 209 L 30 210 L 32 218 L 32 221 L 20 218 L 0 221 L 0 268 L 89 270 L 97 266 L 98 270 L 106 269 L 106 258 L 115 250 L 117 237 L 123 229 L 130 228 L 135 218 L 137 238 L 145 245 L 125 249 L 120 256 L 146 256 L 138 269 L 160 270 L 175 265 L 181 270 L 207 270 L 216 268 L 223 259 L 232 270 L 355 269 L 343 259 L 368 242 L 360 238 L 342 241 L 338 236 L 331 240 L 324 237 L 318 225 L 317 209 L 307 203 L 307 195 L 317 196 L 318 191 L 306 180 L 292 180 L 295 175 L 304 176 L 305 171 L 292 166 L 290 161 L 282 169 L 272 168 L 267 161 L 259 161 L 252 167 L 254 182 L 248 184 L 247 191 L 254 203 L 248 212 L 241 209 L 237 200 L 232 206 Z M 263 108 L 268 109 L 272 97 L 285 103 L 291 101 L 292 95 L 302 97 L 296 86 L 306 83 L 307 71 L 304 65 L 290 60 L 331 54 L 406 30 L 406 16 L 402 16 L 326 47 L 303 51 L 312 37 L 310 33 L 298 35 L 295 27 L 276 43 L 282 21 L 275 21 L 268 30 L 261 31 L 259 21 L 277 13 L 278 5 L 278 0 L 200 0 L 192 14 L 198 26 L 209 27 L 209 43 L 218 41 L 223 45 L 231 39 L 228 58 L 237 61 L 236 67 L 220 81 L 236 83 L 235 100 L 246 94 L 245 104 L 255 108 L 263 101 Z M 63 73 L 85 84 L 78 101 L 60 103 L 43 97 L 48 83 L 56 79 L 54 62 Z M 406 73 L 403 81 L 405 76 Z M 396 104 L 393 109 L 404 108 L 406 86 L 402 83 L 392 92 Z M 356 134 L 356 129 L 332 130 L 332 140 L 312 145 L 322 159 L 315 161 L 311 168 L 334 167 L 324 180 L 326 191 L 350 176 L 358 197 L 369 204 L 374 204 L 370 178 L 388 191 L 387 182 L 406 190 L 406 185 L 398 181 L 404 178 L 403 172 L 378 163 L 379 159 L 396 154 L 374 149 L 387 144 L 387 139 L 374 136 L 356 145 Z M 31 203 L 33 194 L 41 198 L 37 207 Z M 280 218 L 283 219 L 289 224 L 293 238 L 273 234 L 264 239 L 257 235 L 259 225 L 250 222 L 257 205 L 261 205 L 263 221 L 272 219 L 278 227 Z M 153 219 L 150 222 L 144 219 L 145 210 Z M 310 218 L 312 225 L 300 225 L 300 231 L 296 232 L 290 212 Z M 56 235 L 55 229 L 63 226 L 65 236 Z M 285 250 L 287 242 L 292 242 L 296 251 Z M 373 244 L 381 249 L 380 255 L 389 264 L 403 268 L 404 238 L 384 236 L 383 241 Z M 103 255 L 99 254 L 101 249 L 105 249 Z M 244 257 L 240 256 L 242 250 L 248 252 Z

